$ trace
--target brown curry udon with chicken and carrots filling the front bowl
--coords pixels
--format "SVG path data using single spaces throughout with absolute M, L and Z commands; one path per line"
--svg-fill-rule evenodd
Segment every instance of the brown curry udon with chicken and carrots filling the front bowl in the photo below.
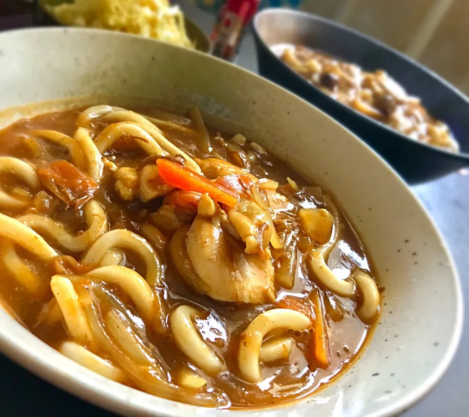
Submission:
M 207 135 L 196 109 L 139 110 L 155 119 L 97 106 L 0 131 L 6 310 L 177 401 L 271 406 L 327 384 L 379 314 L 341 210 L 256 143 Z

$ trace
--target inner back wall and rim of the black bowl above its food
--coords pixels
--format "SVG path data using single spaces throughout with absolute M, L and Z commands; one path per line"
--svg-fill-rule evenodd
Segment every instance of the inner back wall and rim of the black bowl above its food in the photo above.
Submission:
M 278 43 L 300 44 L 357 63 L 368 71 L 384 69 L 409 94 L 420 97 L 430 114 L 445 121 L 460 143 L 461 151 L 469 152 L 468 98 L 421 64 L 353 29 L 307 13 L 265 10 L 257 15 L 255 27 L 261 40 L 269 47 Z M 305 82 L 305 88 L 308 85 Z

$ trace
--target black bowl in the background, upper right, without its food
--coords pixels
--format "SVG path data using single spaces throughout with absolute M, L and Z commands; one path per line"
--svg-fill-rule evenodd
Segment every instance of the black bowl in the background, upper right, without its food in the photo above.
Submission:
M 469 166 L 469 100 L 436 74 L 403 54 L 341 24 L 287 9 L 266 9 L 254 19 L 260 74 L 293 91 L 356 133 L 410 184 Z M 335 101 L 291 70 L 271 51 L 278 43 L 301 44 L 357 63 L 384 69 L 407 92 L 420 97 L 431 115 L 447 123 L 461 152 L 416 142 Z

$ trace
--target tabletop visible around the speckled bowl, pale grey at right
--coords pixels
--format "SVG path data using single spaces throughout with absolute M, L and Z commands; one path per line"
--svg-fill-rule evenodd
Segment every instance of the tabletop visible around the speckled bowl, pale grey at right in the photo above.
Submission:
M 210 32 L 213 16 L 186 4 L 186 14 L 205 31 Z M 256 52 L 252 36 L 243 41 L 237 64 L 257 72 Z M 454 257 L 462 281 L 465 301 L 469 300 L 469 176 L 452 174 L 431 183 L 412 188 L 430 212 L 443 233 Z M 469 309 L 465 311 L 469 321 Z M 469 329 L 465 327 L 461 344 L 436 388 L 420 403 L 405 413 L 417 416 L 468 415 L 469 393 L 466 377 L 469 375 Z M 86 416 L 112 417 L 111 413 L 87 404 L 29 374 L 9 359 L 0 355 L 0 415 L 1 416 Z

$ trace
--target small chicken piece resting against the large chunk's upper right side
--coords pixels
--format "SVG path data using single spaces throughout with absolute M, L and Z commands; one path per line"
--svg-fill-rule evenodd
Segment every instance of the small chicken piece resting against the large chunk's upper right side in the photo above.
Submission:
M 272 236 L 271 222 L 265 211 L 255 202 L 242 199 L 227 215 L 229 222 L 246 244 L 245 252 L 262 254 Z

